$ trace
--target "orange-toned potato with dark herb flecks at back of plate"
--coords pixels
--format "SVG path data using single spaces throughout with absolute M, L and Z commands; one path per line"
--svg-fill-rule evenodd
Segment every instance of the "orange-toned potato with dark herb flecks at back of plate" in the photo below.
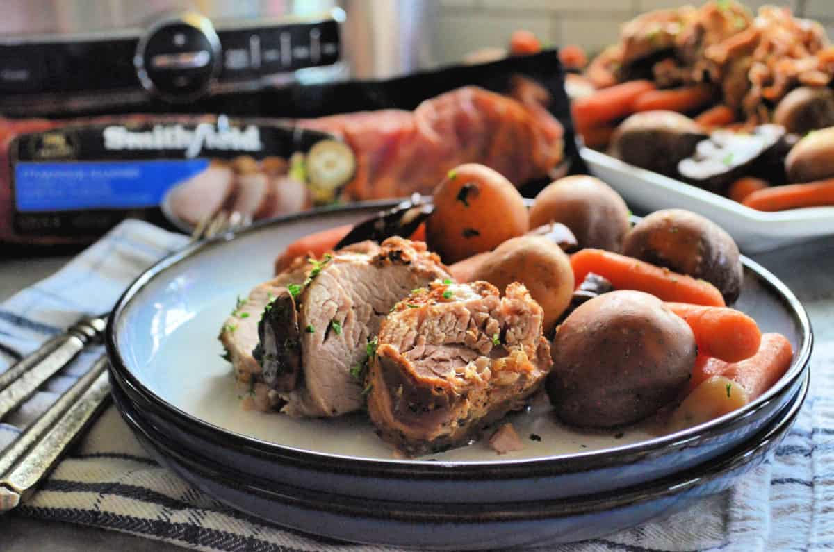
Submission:
M 529 228 L 524 199 L 497 171 L 466 163 L 449 171 L 435 189 L 435 212 L 426 241 L 445 263 L 496 248 Z

